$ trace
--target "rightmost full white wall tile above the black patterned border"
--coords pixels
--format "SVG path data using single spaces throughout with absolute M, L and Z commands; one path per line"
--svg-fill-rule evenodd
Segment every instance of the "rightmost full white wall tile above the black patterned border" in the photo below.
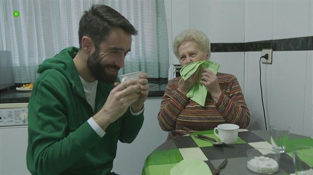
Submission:
M 308 36 L 308 0 L 273 1 L 273 39 Z

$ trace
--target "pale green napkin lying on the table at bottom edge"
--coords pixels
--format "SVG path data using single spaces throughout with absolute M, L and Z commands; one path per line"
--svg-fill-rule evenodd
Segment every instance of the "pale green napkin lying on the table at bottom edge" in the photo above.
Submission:
M 198 159 L 184 159 L 177 165 L 171 168 L 170 175 L 183 174 L 212 174 L 208 165 Z

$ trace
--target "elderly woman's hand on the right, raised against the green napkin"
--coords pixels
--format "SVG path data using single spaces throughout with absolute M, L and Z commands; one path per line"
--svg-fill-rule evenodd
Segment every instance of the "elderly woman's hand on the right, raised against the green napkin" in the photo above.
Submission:
M 222 93 L 218 77 L 212 71 L 204 69 L 203 74 L 201 74 L 200 83 L 205 85 L 213 100 L 218 102 Z

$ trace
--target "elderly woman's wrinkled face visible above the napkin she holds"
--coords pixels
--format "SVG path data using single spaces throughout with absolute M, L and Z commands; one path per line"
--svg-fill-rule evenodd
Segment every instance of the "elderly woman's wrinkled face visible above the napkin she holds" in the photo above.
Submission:
M 179 61 L 182 67 L 186 64 L 195 61 L 205 61 L 209 57 L 209 53 L 204 53 L 200 50 L 197 43 L 193 41 L 186 41 L 178 48 Z

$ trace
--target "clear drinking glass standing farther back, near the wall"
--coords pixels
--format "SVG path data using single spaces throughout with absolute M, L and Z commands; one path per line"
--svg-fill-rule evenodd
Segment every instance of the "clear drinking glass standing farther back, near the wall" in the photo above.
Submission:
M 287 125 L 274 124 L 269 126 L 269 132 L 272 148 L 280 154 L 283 154 L 287 146 L 290 127 Z

